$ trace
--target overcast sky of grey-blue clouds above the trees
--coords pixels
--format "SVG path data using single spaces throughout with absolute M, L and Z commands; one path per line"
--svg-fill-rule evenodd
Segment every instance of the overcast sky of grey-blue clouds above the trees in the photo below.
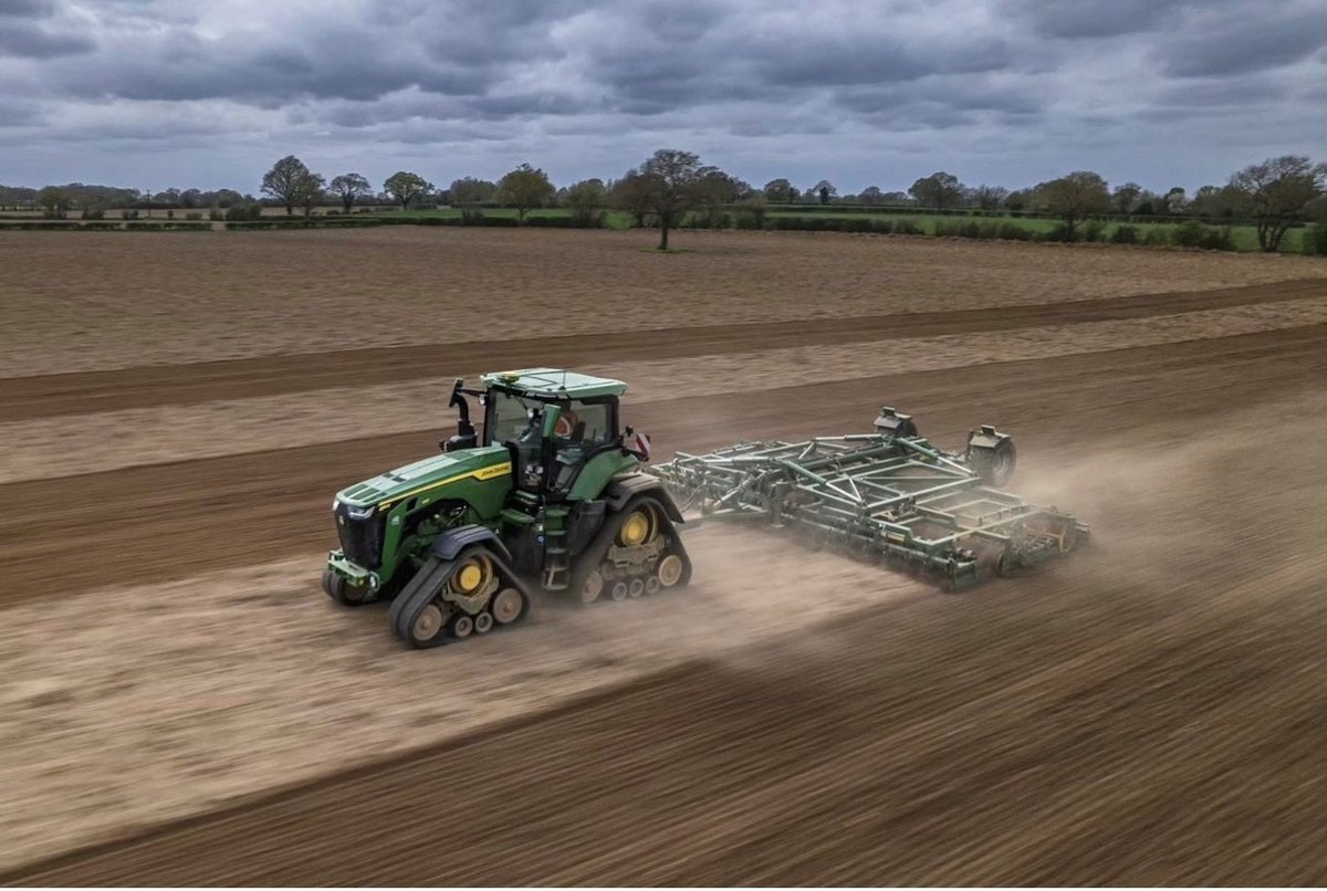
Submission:
M 660 147 L 763 184 L 1327 160 L 1327 0 L 0 0 L 0 183 L 376 186 Z

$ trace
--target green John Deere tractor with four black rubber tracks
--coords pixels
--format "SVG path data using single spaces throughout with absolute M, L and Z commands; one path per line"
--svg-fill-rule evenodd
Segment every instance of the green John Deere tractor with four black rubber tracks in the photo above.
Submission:
M 540 591 L 592 603 L 686 585 L 682 514 L 638 469 L 649 439 L 618 427 L 625 383 L 557 369 L 482 382 L 456 379 L 442 455 L 337 493 L 332 599 L 391 598 L 397 636 L 433 647 L 519 622 Z

